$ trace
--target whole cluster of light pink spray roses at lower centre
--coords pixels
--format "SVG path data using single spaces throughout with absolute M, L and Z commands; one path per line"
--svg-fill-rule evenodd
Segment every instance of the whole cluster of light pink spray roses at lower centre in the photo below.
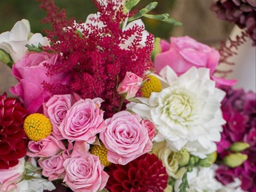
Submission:
M 127 111 L 104 120 L 102 102 L 100 98 L 83 100 L 68 94 L 54 95 L 43 104 L 53 131 L 45 139 L 30 141 L 27 152 L 30 157 L 40 157 L 43 176 L 63 179 L 75 192 L 96 192 L 108 180 L 99 158 L 89 152 L 97 134 L 112 163 L 127 164 L 152 149 L 149 134 L 152 136 L 154 126 L 150 122 Z

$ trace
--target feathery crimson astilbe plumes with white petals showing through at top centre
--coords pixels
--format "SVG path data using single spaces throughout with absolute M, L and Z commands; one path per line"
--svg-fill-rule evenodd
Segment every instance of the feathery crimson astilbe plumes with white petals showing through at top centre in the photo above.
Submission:
M 98 13 L 89 15 L 85 24 L 74 22 L 68 25 L 69 22 L 62 20 L 65 16 L 55 18 L 59 14 L 51 15 L 52 10 L 57 11 L 51 8 L 54 6 L 52 0 L 41 0 L 40 7 L 48 12 L 45 20 L 54 26 L 47 33 L 52 45 L 45 49 L 62 56 L 61 65 L 46 65 L 48 75 L 70 74 L 66 88 L 47 82 L 44 87 L 54 94 L 60 94 L 58 90 L 62 93 L 67 90 L 66 93 L 76 92 L 82 98 L 100 97 L 105 100 L 102 107 L 106 116 L 111 116 L 119 108 L 120 96 L 116 87 L 126 72 L 142 77 L 152 68 L 150 55 L 154 38 L 151 34 L 143 36 L 145 30 L 140 24 L 128 24 L 122 29 L 128 15 L 122 12 L 121 0 L 107 2 L 101 5 L 94 1 Z M 64 30 L 63 24 L 67 24 Z

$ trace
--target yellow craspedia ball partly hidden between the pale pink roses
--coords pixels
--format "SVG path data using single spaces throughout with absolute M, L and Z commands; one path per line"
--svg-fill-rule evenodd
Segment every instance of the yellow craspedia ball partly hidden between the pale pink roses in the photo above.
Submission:
M 111 162 L 109 162 L 107 159 L 108 150 L 102 142 L 100 143 L 100 146 L 92 145 L 90 148 L 90 152 L 91 154 L 98 156 L 100 158 L 101 164 L 104 165 L 105 167 L 111 165 Z

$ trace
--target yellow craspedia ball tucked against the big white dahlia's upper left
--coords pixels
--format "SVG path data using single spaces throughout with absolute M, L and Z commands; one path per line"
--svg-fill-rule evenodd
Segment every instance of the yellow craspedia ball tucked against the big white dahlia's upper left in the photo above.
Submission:
M 162 84 L 154 75 L 148 75 L 147 78 L 148 80 L 144 82 L 140 91 L 143 97 L 149 98 L 152 92 L 160 92 L 162 90 Z

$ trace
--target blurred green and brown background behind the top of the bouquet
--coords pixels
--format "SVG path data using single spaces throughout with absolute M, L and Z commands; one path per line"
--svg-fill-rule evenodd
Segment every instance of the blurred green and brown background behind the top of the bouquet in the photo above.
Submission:
M 210 10 L 212 0 L 142 0 L 136 8 L 143 8 L 153 1 L 157 1 L 158 6 L 152 14 L 169 13 L 184 24 L 183 27 L 178 27 L 144 18 L 146 29 L 156 37 L 169 39 L 170 36 L 188 35 L 218 47 L 220 41 L 226 40 L 233 28 L 233 24 L 219 20 Z M 74 16 L 76 20 L 85 21 L 88 14 L 96 12 L 91 0 L 55 0 L 55 3 L 66 9 L 68 17 Z M 50 27 L 40 23 L 45 15 L 34 0 L 0 0 L 0 33 L 10 31 L 23 18 L 30 21 L 33 33 L 42 32 L 43 28 Z M 0 94 L 8 91 L 15 82 L 10 75 L 10 69 L 0 64 Z

